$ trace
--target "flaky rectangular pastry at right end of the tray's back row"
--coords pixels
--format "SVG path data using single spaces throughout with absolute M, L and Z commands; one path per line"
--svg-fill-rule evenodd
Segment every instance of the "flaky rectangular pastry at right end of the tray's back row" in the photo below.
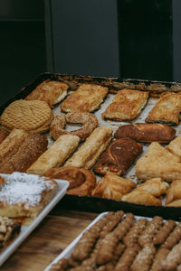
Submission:
M 146 118 L 148 123 L 165 123 L 176 126 L 180 121 L 181 92 L 167 92 L 161 94 L 155 107 L 151 109 Z

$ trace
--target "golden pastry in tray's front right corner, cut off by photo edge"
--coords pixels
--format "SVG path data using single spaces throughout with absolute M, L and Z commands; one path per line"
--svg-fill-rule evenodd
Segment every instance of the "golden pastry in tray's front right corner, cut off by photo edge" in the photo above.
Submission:
M 174 180 L 167 190 L 166 204 L 176 200 L 181 200 L 181 180 Z

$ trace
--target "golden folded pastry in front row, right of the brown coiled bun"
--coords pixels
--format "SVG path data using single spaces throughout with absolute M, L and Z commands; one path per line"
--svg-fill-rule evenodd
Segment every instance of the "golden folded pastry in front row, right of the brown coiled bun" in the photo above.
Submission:
M 130 192 L 134 187 L 136 187 L 136 184 L 129 181 L 129 179 L 106 173 L 91 192 L 91 196 L 120 201 L 122 196 Z

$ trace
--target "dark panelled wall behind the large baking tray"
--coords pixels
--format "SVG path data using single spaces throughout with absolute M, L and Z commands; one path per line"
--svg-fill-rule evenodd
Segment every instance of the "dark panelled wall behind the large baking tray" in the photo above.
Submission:
M 0 104 L 44 71 L 181 82 L 180 0 L 0 0 Z

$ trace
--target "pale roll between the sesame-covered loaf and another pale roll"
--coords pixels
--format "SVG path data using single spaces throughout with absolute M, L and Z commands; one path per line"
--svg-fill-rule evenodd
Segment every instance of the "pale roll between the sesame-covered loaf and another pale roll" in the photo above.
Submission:
M 27 173 L 43 175 L 49 169 L 61 165 L 79 145 L 77 135 L 60 135 L 27 170 Z

